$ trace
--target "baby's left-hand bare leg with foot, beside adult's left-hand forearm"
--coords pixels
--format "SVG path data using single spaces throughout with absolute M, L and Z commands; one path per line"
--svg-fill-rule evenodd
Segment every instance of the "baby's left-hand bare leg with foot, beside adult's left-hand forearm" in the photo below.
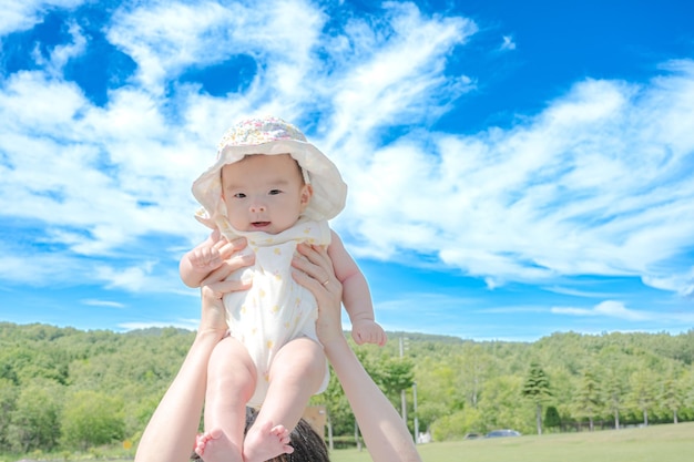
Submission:
M 255 391 L 256 371 L 246 348 L 227 337 L 207 366 L 205 433 L 195 452 L 205 462 L 242 462 L 246 402 Z

